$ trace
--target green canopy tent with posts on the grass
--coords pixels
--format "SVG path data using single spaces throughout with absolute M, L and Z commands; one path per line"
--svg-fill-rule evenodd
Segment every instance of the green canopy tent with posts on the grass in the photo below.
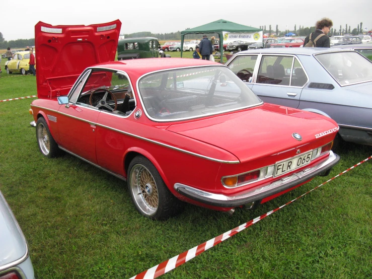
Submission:
M 219 36 L 219 52 L 221 53 L 221 63 L 222 63 L 222 49 L 224 46 L 224 32 L 236 32 L 236 33 L 252 33 L 252 32 L 262 32 L 259 28 L 254 28 L 251 26 L 246 26 L 238 23 L 234 23 L 227 20 L 216 20 L 195 28 L 187 29 L 181 32 L 181 57 L 183 52 L 183 41 L 186 34 L 204 34 L 204 33 L 217 33 Z

